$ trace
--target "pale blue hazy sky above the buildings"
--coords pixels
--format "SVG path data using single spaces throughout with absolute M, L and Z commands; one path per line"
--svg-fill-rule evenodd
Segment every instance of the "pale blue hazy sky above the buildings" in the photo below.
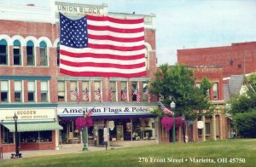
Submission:
M 59 0 L 58 0 L 59 1 Z M 108 4 L 109 12 L 156 15 L 158 65 L 177 62 L 177 49 L 256 41 L 256 0 L 60 0 Z M 49 0 L 0 0 L 47 7 Z

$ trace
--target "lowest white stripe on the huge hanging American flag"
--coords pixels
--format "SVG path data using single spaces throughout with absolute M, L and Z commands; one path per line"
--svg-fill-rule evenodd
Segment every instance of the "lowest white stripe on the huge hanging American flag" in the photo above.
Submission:
M 124 74 L 146 71 L 145 66 L 140 68 L 133 68 L 133 69 L 120 69 L 120 68 L 113 68 L 113 67 L 93 67 L 93 66 L 75 67 L 75 66 L 67 66 L 67 65 L 61 64 L 60 68 L 67 71 L 71 71 L 71 72 L 118 72 L 118 73 L 124 73 Z

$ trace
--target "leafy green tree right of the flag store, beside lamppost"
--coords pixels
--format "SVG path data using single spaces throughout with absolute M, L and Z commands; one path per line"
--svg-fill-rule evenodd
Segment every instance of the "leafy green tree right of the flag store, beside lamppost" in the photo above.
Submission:
M 155 73 L 155 80 L 151 83 L 151 93 L 161 95 L 166 106 L 174 101 L 176 103 L 175 114 L 182 114 L 190 120 L 200 115 L 212 115 L 213 106 L 209 102 L 207 91 L 212 83 L 203 78 L 200 88 L 195 87 L 194 72 L 183 65 L 161 65 Z M 160 117 L 163 114 L 158 110 Z

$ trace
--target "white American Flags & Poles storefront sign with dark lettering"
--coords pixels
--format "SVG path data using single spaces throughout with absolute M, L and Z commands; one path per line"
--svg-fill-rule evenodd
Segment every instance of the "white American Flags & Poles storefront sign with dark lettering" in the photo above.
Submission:
M 79 116 L 92 111 L 92 116 L 150 114 L 154 107 L 58 107 L 60 116 Z

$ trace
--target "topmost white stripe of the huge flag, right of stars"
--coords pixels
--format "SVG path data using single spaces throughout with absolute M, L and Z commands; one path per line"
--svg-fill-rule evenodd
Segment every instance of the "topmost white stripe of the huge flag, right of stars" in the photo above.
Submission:
M 92 25 L 92 26 L 111 26 L 114 28 L 120 28 L 120 29 L 135 29 L 135 28 L 141 28 L 144 27 L 144 23 L 137 23 L 137 24 L 121 24 L 121 23 L 113 23 L 110 22 L 108 20 L 100 20 L 100 21 L 96 21 L 96 20 L 87 20 L 87 24 L 88 25 Z

